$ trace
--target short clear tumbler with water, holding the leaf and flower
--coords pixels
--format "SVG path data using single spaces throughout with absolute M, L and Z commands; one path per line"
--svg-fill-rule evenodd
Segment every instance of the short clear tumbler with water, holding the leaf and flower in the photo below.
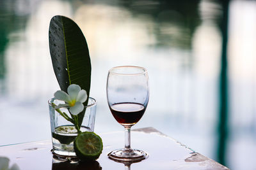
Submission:
M 52 103 L 56 106 L 63 102 L 58 101 L 55 98 L 48 101 L 52 132 L 52 153 L 62 157 L 76 157 L 73 145 L 74 139 L 77 136 L 76 127 L 74 124 L 63 118 L 60 113 L 54 109 Z M 93 132 L 96 106 L 97 101 L 92 97 L 89 97 L 87 106 L 84 106 L 86 111 L 80 127 L 81 132 Z M 69 113 L 67 108 L 60 108 L 60 111 L 67 114 Z

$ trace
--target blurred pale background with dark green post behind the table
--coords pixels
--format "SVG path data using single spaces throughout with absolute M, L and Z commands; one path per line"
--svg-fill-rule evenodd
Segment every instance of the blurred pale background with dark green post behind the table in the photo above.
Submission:
M 95 132 L 123 131 L 106 100 L 108 70 L 143 66 L 150 101 L 134 129 L 154 127 L 230 169 L 255 169 L 256 1 L 1 0 L 0 145 L 51 138 L 54 15 L 86 37 Z

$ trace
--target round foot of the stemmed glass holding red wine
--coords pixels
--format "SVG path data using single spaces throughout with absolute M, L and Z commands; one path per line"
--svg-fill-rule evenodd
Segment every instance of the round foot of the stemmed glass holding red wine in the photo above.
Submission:
M 117 162 L 140 162 L 141 160 L 146 159 L 148 154 L 141 150 L 118 149 L 108 153 L 108 157 L 109 159 L 115 160 Z

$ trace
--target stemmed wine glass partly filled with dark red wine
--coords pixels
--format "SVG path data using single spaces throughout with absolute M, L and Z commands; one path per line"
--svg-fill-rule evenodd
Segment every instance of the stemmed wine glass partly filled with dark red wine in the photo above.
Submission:
M 113 117 L 125 128 L 125 147 L 108 157 L 117 161 L 138 162 L 147 153 L 131 148 L 131 127 L 143 116 L 148 104 L 148 73 L 143 67 L 118 66 L 108 72 L 108 105 Z

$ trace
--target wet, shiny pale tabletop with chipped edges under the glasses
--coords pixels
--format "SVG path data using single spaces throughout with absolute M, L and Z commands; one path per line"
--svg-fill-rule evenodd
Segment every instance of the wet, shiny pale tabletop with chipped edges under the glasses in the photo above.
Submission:
M 63 161 L 63 159 L 52 155 L 51 140 L 0 146 L 0 157 L 8 158 L 10 165 L 16 164 L 17 168 L 26 170 L 228 169 L 151 127 L 136 129 L 132 132 L 132 148 L 139 148 L 148 153 L 147 159 L 133 164 L 129 164 L 129 162 L 115 162 L 108 158 L 109 152 L 123 147 L 124 134 L 122 131 L 100 134 L 100 136 L 104 148 L 99 159 L 95 162 Z

